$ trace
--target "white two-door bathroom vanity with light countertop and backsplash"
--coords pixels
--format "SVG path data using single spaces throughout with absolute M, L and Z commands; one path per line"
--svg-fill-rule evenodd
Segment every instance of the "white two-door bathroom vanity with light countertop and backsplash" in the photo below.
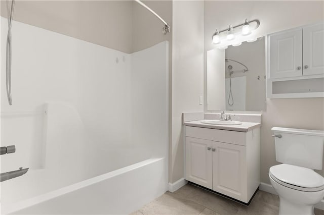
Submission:
M 241 118 L 240 125 L 206 124 L 220 114 L 205 113 L 204 119 L 193 121 L 185 115 L 185 179 L 249 203 L 260 185 L 261 114 L 232 114 Z

